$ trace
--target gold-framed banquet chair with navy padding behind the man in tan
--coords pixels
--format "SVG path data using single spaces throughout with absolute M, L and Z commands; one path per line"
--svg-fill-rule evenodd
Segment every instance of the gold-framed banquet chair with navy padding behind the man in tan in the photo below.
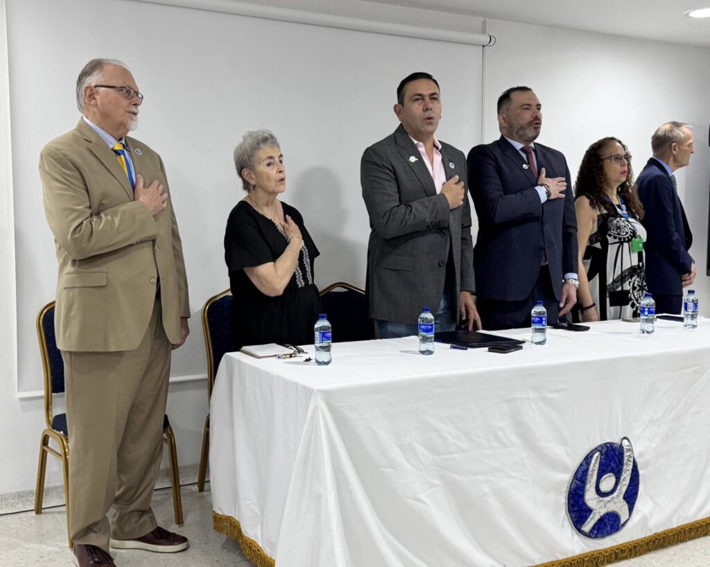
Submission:
M 67 427 L 67 414 L 53 413 L 53 395 L 65 391 L 64 388 L 64 361 L 62 353 L 57 348 L 54 332 L 54 307 L 55 302 L 46 304 L 37 315 L 37 338 L 40 343 L 42 357 L 42 370 L 44 373 L 45 390 L 45 422 L 46 429 L 40 438 L 40 459 L 37 467 L 37 488 L 35 490 L 35 514 L 42 513 L 44 499 L 45 473 L 47 471 L 48 453 L 59 458 L 62 462 L 64 473 L 64 497 L 67 509 L 67 538 L 69 547 L 73 546 L 72 535 L 69 531 L 69 429 Z M 57 451 L 50 446 L 53 439 L 59 446 Z M 175 524 L 182 525 L 182 497 L 180 495 L 180 473 L 178 473 L 178 452 L 175 447 L 175 435 L 170 427 L 168 416 L 163 417 L 163 443 L 168 445 L 170 460 L 170 477 L 173 482 L 173 509 L 175 511 Z

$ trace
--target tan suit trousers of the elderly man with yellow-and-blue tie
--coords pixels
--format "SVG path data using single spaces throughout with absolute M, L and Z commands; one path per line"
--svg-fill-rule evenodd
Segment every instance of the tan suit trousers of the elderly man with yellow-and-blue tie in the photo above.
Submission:
M 100 313 L 96 314 L 101 317 Z M 75 544 L 109 551 L 157 525 L 151 499 L 163 454 L 170 341 L 160 315 L 134 351 L 62 351 L 69 427 L 69 518 Z M 116 513 L 111 519 L 111 506 Z

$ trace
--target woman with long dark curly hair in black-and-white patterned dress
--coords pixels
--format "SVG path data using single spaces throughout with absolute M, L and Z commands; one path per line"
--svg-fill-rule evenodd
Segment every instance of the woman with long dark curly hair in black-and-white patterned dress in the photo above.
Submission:
M 631 155 L 618 138 L 586 150 L 574 183 L 579 246 L 577 306 L 582 321 L 638 316 L 646 292 L 643 205 Z

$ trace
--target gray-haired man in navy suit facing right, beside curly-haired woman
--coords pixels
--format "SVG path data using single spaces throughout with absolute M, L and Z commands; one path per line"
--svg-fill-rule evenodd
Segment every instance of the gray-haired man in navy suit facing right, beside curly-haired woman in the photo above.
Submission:
M 653 157 L 636 180 L 645 216 L 646 282 L 656 313 L 681 312 L 683 288 L 695 280 L 695 262 L 688 253 L 693 236 L 678 198 L 673 173 L 690 163 L 693 133 L 682 122 L 667 122 L 651 137 Z

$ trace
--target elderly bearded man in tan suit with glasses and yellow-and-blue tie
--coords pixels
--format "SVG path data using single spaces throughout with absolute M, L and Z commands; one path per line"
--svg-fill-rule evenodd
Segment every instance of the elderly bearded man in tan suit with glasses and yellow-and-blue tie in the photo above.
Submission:
M 185 263 L 160 156 L 126 135 L 143 95 L 126 66 L 92 60 L 77 127 L 40 155 L 55 238 L 57 344 L 65 365 L 74 562 L 117 549 L 182 551 L 151 497 L 163 451 L 170 348 L 190 332 Z M 116 513 L 110 524 L 107 512 Z

